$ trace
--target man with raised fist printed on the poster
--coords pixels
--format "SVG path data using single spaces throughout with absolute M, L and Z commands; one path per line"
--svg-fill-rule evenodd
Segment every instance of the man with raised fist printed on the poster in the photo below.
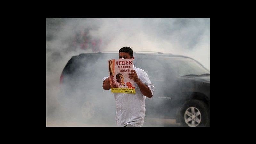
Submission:
M 123 83 L 124 80 L 124 76 L 122 74 L 117 74 L 116 75 L 116 80 L 114 78 L 114 71 L 112 68 L 112 60 L 109 60 L 109 73 L 110 73 L 110 79 L 111 79 L 111 83 L 112 83 L 112 87 L 124 87 L 124 88 L 128 88 L 127 84 Z

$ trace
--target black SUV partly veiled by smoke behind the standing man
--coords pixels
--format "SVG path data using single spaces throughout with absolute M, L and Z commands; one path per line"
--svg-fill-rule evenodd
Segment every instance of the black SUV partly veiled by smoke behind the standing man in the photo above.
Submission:
M 115 119 L 113 94 L 102 88 L 108 59 L 118 59 L 118 52 L 80 54 L 68 61 L 60 77 L 59 97 L 67 110 L 78 108 L 75 111 L 86 120 Z M 146 117 L 176 119 L 183 126 L 210 126 L 210 71 L 202 64 L 161 52 L 134 52 L 133 63 L 148 73 L 155 87 L 153 97 L 146 98 Z

